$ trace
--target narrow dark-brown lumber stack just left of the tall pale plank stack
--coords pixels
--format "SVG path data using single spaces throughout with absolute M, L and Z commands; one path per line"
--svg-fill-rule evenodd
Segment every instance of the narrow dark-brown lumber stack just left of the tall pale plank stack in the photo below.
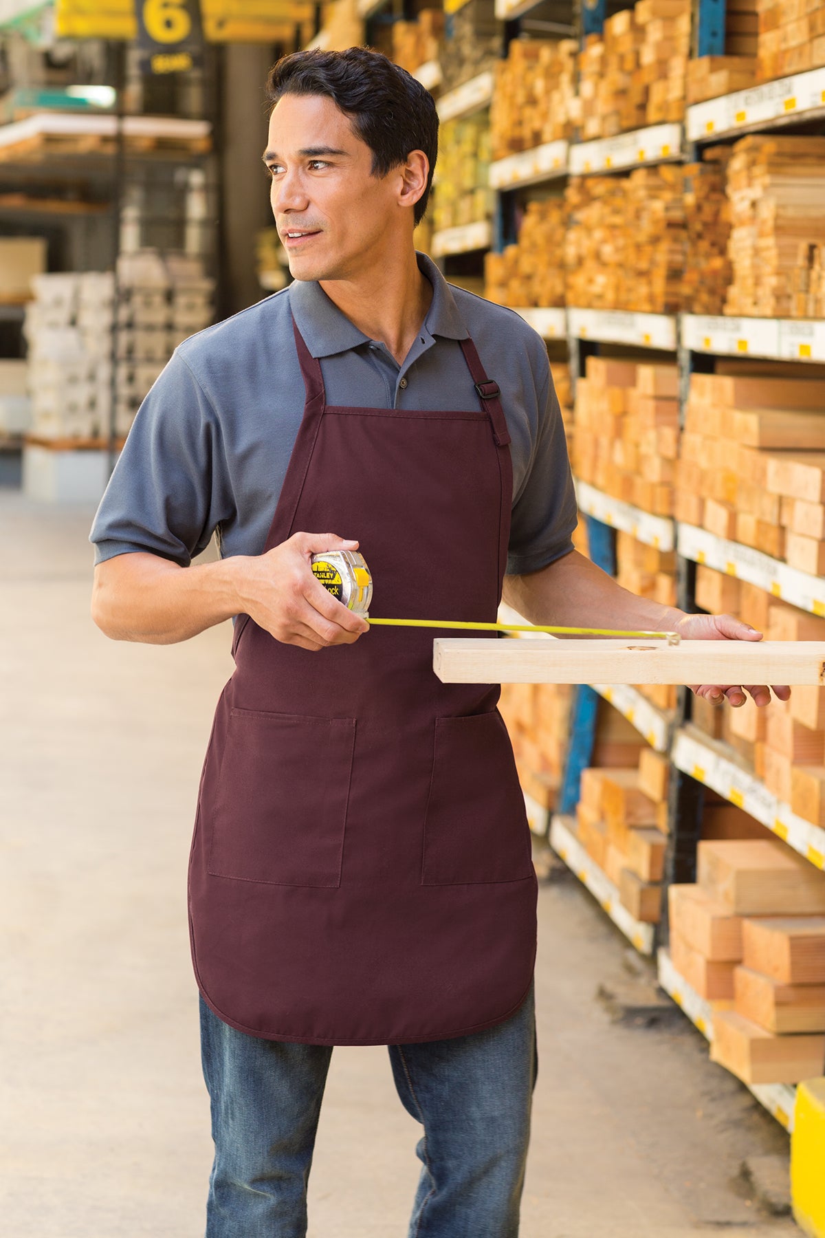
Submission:
M 730 147 L 711 146 L 704 157 L 704 163 L 683 168 L 688 261 L 682 275 L 682 308 L 686 313 L 719 314 L 731 282 L 731 207 L 725 194 Z

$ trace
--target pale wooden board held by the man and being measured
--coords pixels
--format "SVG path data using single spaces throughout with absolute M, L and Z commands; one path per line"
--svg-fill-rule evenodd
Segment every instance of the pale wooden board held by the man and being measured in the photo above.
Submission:
M 433 669 L 443 683 L 818 683 L 825 641 L 448 640 Z

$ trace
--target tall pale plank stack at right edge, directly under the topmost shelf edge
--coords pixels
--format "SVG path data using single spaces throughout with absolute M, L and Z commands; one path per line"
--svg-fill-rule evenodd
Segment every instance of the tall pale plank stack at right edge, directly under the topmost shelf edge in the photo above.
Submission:
M 733 280 L 725 313 L 790 317 L 801 244 L 825 243 L 825 137 L 743 137 L 727 165 Z

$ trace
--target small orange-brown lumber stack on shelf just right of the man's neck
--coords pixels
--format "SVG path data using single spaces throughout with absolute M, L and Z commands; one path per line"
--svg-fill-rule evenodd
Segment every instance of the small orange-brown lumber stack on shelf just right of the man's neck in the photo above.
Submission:
M 485 296 L 506 306 L 563 306 L 564 198 L 529 202 L 518 241 L 485 256 Z

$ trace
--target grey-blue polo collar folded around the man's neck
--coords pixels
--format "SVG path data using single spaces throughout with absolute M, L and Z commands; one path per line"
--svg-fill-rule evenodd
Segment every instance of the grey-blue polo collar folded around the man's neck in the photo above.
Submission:
M 423 329 L 430 335 L 444 335 L 447 339 L 468 339 L 469 332 L 449 284 L 427 254 L 416 251 L 416 258 L 419 271 L 433 285 L 433 300 Z M 289 285 L 289 308 L 314 358 L 346 353 L 370 340 L 329 300 L 317 280 L 294 280 Z

